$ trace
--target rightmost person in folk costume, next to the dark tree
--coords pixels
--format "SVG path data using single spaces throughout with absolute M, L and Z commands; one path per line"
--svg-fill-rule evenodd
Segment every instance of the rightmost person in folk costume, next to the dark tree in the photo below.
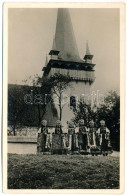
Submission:
M 98 145 L 101 146 L 102 152 L 107 152 L 110 145 L 110 130 L 105 126 L 105 121 L 100 121 L 100 128 L 97 130 Z

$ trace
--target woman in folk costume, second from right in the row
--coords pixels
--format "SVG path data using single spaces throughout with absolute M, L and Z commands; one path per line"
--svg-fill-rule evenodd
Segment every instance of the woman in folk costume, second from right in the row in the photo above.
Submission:
M 97 129 L 94 127 L 94 121 L 90 121 L 88 128 L 90 147 L 96 147 L 96 130 Z

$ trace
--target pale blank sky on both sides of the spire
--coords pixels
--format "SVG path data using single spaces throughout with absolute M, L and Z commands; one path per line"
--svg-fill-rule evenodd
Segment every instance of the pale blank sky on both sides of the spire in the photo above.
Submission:
M 89 42 L 94 55 L 92 90 L 116 90 L 120 84 L 120 18 L 116 8 L 69 9 L 80 57 Z M 42 75 L 46 54 L 52 48 L 56 28 L 55 8 L 9 8 L 8 83 L 23 84 Z

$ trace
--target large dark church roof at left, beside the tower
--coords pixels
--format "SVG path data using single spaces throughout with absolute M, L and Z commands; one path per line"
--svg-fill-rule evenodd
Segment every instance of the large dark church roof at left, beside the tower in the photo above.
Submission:
M 33 101 L 30 104 L 24 101 L 26 95 L 32 96 Z M 41 96 L 41 103 L 38 96 Z M 44 94 L 41 94 L 40 87 L 8 85 L 8 125 L 11 126 L 14 136 L 18 127 L 40 127 L 45 108 Z

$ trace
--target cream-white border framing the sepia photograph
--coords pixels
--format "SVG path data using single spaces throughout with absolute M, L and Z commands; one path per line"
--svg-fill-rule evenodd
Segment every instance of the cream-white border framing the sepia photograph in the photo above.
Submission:
M 74 2 L 74 1 L 73 1 Z M 124 192 L 124 138 L 125 134 L 121 131 L 121 152 L 120 152 L 120 189 L 115 190 L 8 190 L 7 189 L 7 72 L 8 72 L 8 8 L 46 8 L 46 7 L 74 7 L 74 8 L 120 8 L 120 97 L 121 97 L 121 125 L 120 128 L 124 131 L 124 117 L 125 117 L 125 4 L 124 3 L 5 3 L 4 4 L 4 26 L 3 26 L 3 191 L 4 193 L 123 193 Z

